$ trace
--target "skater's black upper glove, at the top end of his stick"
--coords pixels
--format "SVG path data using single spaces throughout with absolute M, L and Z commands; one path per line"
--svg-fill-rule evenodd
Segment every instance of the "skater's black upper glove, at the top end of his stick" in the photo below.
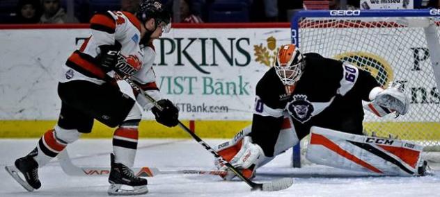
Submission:
M 101 53 L 96 57 L 98 64 L 104 68 L 105 72 L 114 70 L 118 63 L 120 45 L 101 45 L 99 47 Z

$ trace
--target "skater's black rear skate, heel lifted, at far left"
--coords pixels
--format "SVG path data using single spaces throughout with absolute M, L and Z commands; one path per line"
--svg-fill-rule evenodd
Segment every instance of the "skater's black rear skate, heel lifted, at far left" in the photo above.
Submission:
M 38 180 L 38 163 L 31 155 L 15 160 L 15 166 L 5 166 L 5 169 L 27 191 L 41 187 L 41 182 Z

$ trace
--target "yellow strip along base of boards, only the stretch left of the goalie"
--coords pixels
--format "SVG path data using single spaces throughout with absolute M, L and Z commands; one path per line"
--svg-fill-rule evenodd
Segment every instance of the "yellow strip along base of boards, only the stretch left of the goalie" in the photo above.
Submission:
M 182 123 L 189 128 L 189 121 L 182 121 Z M 0 138 L 41 137 L 45 131 L 54 128 L 55 124 L 56 121 L 1 120 Z M 230 138 L 250 124 L 251 121 L 194 121 L 194 128 L 199 137 Z M 111 138 L 114 130 L 95 121 L 92 132 L 81 135 L 81 138 Z M 168 128 L 156 121 L 143 120 L 139 126 L 139 137 L 185 138 L 189 135 L 179 127 Z

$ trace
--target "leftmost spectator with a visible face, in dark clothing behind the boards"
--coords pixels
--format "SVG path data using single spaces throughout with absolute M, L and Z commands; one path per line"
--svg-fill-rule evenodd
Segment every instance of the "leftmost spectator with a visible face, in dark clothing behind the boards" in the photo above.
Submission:
M 40 1 L 20 0 L 17 4 L 15 24 L 37 24 L 40 21 Z

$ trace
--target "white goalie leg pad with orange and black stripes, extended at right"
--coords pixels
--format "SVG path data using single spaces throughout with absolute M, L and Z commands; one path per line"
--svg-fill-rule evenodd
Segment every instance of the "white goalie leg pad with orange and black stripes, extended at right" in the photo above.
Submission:
M 423 146 L 400 139 L 311 128 L 306 158 L 316 164 L 382 175 L 418 175 Z

